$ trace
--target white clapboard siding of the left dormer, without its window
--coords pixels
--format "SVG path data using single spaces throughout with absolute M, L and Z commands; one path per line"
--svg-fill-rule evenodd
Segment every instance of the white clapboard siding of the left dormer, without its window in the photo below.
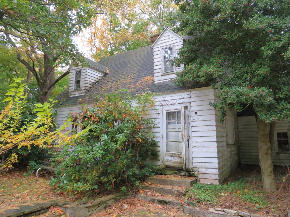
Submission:
M 81 88 L 74 90 L 75 71 L 81 70 Z M 69 73 L 69 96 L 79 96 L 90 90 L 103 76 L 104 72 L 89 67 L 72 67 Z

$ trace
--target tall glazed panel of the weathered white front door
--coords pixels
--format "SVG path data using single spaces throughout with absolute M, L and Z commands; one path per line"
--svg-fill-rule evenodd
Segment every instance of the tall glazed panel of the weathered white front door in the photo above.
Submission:
M 181 111 L 166 112 L 166 151 L 182 153 Z

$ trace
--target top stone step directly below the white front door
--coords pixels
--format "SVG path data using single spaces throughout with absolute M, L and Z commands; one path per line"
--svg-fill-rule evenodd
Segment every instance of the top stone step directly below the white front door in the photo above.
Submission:
M 197 182 L 196 177 L 176 176 L 176 175 L 155 175 L 145 178 L 145 182 L 162 185 L 172 185 L 180 187 L 189 187 Z

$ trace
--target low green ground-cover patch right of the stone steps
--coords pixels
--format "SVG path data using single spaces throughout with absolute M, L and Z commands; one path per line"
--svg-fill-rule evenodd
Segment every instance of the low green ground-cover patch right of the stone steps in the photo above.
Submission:
M 263 190 L 255 190 L 246 180 L 241 178 L 238 181 L 228 182 L 227 184 L 194 184 L 185 191 L 184 199 L 192 204 L 197 203 L 219 205 L 219 199 L 234 197 L 235 200 L 245 201 L 255 204 L 256 208 L 270 206 L 266 200 Z

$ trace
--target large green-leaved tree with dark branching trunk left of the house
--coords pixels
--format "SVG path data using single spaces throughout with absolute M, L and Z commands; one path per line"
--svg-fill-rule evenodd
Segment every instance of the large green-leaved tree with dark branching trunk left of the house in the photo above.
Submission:
M 94 3 L 94 4 L 93 4 Z M 1 0 L 0 42 L 16 52 L 16 58 L 33 74 L 46 102 L 57 77 L 55 70 L 70 61 L 83 62 L 72 36 L 91 24 L 103 2 L 76 0 Z

